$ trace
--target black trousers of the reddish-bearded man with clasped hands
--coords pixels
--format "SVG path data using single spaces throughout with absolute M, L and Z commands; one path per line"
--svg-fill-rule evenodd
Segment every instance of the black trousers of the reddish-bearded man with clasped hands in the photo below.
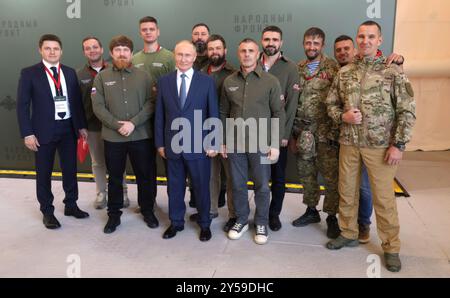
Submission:
M 121 215 L 123 208 L 123 172 L 127 156 L 136 175 L 138 204 L 142 215 L 153 212 L 155 204 L 155 147 L 150 139 L 132 142 L 105 141 L 105 161 L 108 170 L 108 215 Z

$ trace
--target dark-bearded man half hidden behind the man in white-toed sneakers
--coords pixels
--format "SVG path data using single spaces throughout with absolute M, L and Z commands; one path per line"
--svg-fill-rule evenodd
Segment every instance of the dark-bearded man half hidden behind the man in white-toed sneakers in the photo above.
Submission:
M 282 134 L 280 157 L 272 164 L 272 200 L 269 210 L 269 227 L 272 231 L 281 229 L 280 213 L 283 206 L 286 181 L 287 145 L 292 133 L 299 96 L 299 77 L 294 62 L 283 56 L 283 32 L 277 26 L 264 28 L 261 37 L 263 53 L 259 59 L 263 70 L 277 77 L 281 86 L 281 105 L 286 113 L 286 122 L 280 123 Z

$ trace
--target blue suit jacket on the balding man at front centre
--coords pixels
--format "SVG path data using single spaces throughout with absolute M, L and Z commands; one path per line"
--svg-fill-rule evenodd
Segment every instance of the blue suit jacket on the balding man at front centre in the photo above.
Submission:
M 181 108 L 180 99 L 178 96 L 177 71 L 161 77 L 158 82 L 158 97 L 156 100 L 155 146 L 156 148 L 165 147 L 167 158 L 178 159 L 181 156 L 187 160 L 206 158 L 205 148 L 203 148 L 203 140 L 206 135 L 210 133 L 210 130 L 202 130 L 201 139 L 197 138 L 194 140 L 194 135 L 200 133 L 199 129 L 196 129 L 194 126 L 194 111 L 199 110 L 201 111 L 201 119 L 197 119 L 197 122 L 201 121 L 199 123 L 200 127 L 203 127 L 205 119 L 218 119 L 219 117 L 217 91 L 214 80 L 211 77 L 198 71 L 194 71 L 183 108 Z M 175 119 L 180 117 L 183 117 L 190 123 L 190 152 L 177 153 L 173 151 L 171 146 L 174 136 L 176 136 L 181 130 L 185 130 L 184 132 L 188 130 L 187 127 L 180 127 L 175 130 L 171 129 L 172 123 L 177 123 L 174 121 L 178 121 Z M 197 131 L 195 132 L 195 130 Z M 186 141 L 187 140 L 183 139 L 182 143 Z M 202 144 L 200 144 L 200 142 Z M 211 149 L 218 149 L 216 147 L 219 144 L 218 142 L 216 143 L 217 145 Z M 212 142 L 212 145 L 215 145 L 214 142 Z M 199 148 L 201 148 L 201 151 L 197 152 L 197 150 L 194 150 Z

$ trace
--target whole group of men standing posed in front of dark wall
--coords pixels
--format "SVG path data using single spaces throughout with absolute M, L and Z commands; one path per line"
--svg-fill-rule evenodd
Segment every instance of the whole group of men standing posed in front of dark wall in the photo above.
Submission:
M 189 184 L 190 204 L 198 211 L 191 220 L 200 226 L 199 239 L 211 239 L 211 220 L 225 192 L 229 219 L 224 231 L 239 239 L 249 229 L 250 178 L 256 204 L 254 241 L 265 244 L 268 228 L 282 227 L 290 148 L 307 205 L 292 224 L 320 222 L 320 173 L 326 187 L 327 236 L 332 239 L 327 248 L 367 243 L 371 188 L 386 267 L 400 270 L 392 180 L 411 137 L 415 105 L 411 84 L 398 66 L 403 57 L 386 58 L 378 49 L 382 35 L 377 23 L 367 21 L 358 28 L 357 53 L 350 37 L 336 39 L 338 63 L 322 51 L 325 33 L 308 29 L 303 37 L 307 59 L 298 65 L 282 53 L 281 29 L 268 26 L 261 36 L 262 52 L 253 39 L 239 43 L 237 69 L 226 60 L 224 38 L 210 35 L 206 24 L 195 25 L 192 40 L 178 42 L 174 53 L 158 43 L 155 18 L 142 18 L 139 27 L 144 49 L 133 55 L 131 39 L 114 37 L 111 65 L 103 60 L 100 40 L 89 36 L 82 42 L 87 64 L 75 74 L 60 64 L 59 38 L 47 34 L 39 42 L 42 62 L 22 70 L 19 126 L 25 145 L 35 152 L 37 197 L 47 228 L 60 227 L 50 182 L 56 150 L 66 194 L 64 213 L 89 216 L 76 204 L 76 142 L 81 136 L 90 147 L 97 186 L 94 206 L 108 207 L 105 233 L 116 230 L 121 209 L 129 205 L 127 157 L 136 175 L 140 213 L 150 228 L 159 226 L 154 214 L 159 154 L 168 178 L 171 221 L 163 238 L 184 229 Z M 194 125 L 198 117 L 200 127 Z M 203 125 L 210 119 L 221 120 L 223 135 L 209 138 L 213 127 L 217 129 L 217 122 Z M 244 124 L 230 125 L 230 119 Z M 253 120 L 258 129 L 249 132 Z

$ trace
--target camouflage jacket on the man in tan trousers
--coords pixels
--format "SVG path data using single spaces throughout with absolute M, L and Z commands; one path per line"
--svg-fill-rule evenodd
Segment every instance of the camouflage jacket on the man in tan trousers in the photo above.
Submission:
M 340 125 L 344 145 L 387 148 L 407 143 L 415 122 L 414 92 L 397 65 L 386 66 L 384 56 L 357 58 L 343 67 L 327 98 L 328 114 Z M 342 114 L 357 108 L 362 124 L 342 122 Z

